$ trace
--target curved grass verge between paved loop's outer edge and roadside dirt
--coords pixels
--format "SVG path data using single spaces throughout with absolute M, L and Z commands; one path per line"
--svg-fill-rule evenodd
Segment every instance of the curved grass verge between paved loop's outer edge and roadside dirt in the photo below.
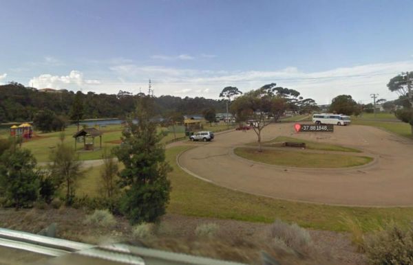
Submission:
M 363 231 L 377 229 L 377 224 L 396 222 L 407 225 L 411 222 L 413 208 L 338 207 L 312 203 L 295 203 L 235 192 L 224 187 L 201 181 L 176 164 L 176 156 L 188 146 L 167 150 L 167 160 L 173 167 L 169 174 L 172 192 L 167 211 L 171 214 L 273 222 L 281 219 L 297 222 L 302 227 L 332 231 L 350 231 L 346 220 L 357 220 Z

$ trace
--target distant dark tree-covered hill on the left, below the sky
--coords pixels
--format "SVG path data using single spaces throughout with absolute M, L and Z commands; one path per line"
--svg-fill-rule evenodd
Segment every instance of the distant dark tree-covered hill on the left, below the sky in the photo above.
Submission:
M 68 116 L 75 93 L 65 89 L 59 93 L 50 93 L 50 89 L 38 91 L 22 84 L 12 83 L 0 85 L 0 123 L 31 121 L 34 114 L 42 109 L 50 109 L 57 115 Z M 134 111 L 138 95 L 127 91 L 118 94 L 83 94 L 85 119 L 125 117 Z M 199 114 L 204 108 L 214 107 L 217 112 L 224 112 L 222 100 L 211 100 L 204 97 L 175 97 L 162 95 L 155 98 L 156 114 L 163 115 L 171 111 L 184 114 Z

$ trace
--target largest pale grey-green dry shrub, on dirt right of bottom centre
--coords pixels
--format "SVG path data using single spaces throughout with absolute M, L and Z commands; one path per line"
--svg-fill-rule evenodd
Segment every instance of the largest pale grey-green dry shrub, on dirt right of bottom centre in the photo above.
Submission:
M 270 237 L 275 240 L 277 246 L 280 245 L 280 240 L 294 251 L 307 252 L 311 246 L 311 236 L 306 229 L 298 226 L 298 224 L 286 224 L 280 220 L 275 220 L 270 228 Z

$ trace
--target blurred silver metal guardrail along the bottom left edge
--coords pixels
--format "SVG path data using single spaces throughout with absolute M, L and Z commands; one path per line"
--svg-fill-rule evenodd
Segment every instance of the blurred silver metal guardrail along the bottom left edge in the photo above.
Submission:
M 0 229 L 0 246 L 50 256 L 44 264 L 133 264 L 133 265 L 242 265 L 182 253 L 147 249 L 127 244 L 94 246 L 81 242 L 48 238 L 10 229 Z

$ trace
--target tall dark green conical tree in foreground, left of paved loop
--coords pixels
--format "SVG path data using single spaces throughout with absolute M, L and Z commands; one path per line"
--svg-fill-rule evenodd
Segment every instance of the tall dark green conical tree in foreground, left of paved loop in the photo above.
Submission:
M 115 148 L 118 160 L 125 165 L 120 186 L 126 187 L 120 199 L 120 211 L 131 224 L 155 222 L 165 214 L 171 185 L 167 173 L 171 167 L 165 162 L 162 134 L 151 120 L 153 98 L 140 97 L 136 109 L 137 124 L 132 120 L 123 133 L 123 144 Z

